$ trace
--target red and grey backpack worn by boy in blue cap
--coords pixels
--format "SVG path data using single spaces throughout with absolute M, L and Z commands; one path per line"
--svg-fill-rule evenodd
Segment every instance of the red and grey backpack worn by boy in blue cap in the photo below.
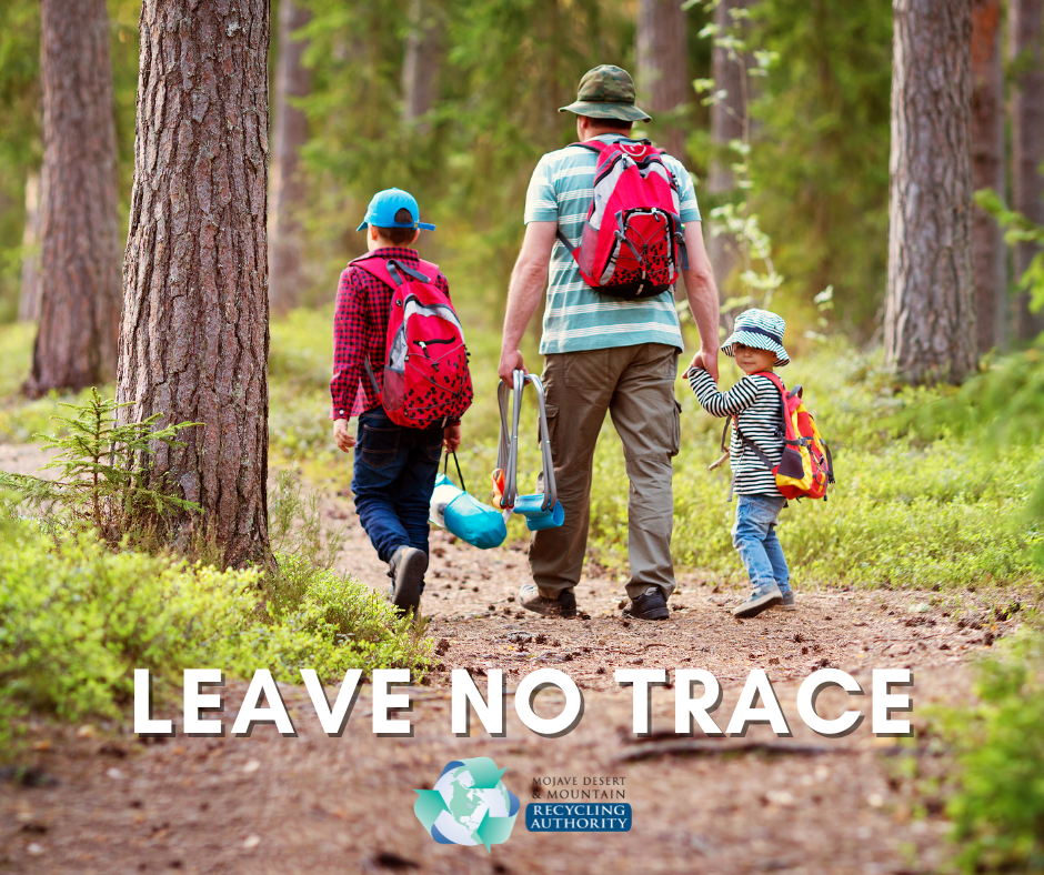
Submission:
M 471 406 L 464 329 L 450 299 L 435 285 L 439 265 L 421 261 L 419 270 L 394 259 L 364 255 L 351 262 L 394 290 L 388 311 L 384 389 L 364 362 L 373 391 L 399 425 L 425 429 L 460 419 Z

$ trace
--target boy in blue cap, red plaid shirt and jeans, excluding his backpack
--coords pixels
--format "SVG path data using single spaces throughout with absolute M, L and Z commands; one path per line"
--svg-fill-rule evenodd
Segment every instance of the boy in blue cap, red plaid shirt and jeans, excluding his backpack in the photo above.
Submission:
M 418 269 L 413 247 L 420 229 L 435 228 L 419 218 L 412 194 L 388 189 L 373 195 L 355 230 L 367 231 L 371 257 Z M 441 273 L 435 284 L 449 295 Z M 400 611 L 415 613 L 428 571 L 428 513 L 439 460 L 443 446 L 455 451 L 460 445 L 461 426 L 459 420 L 446 421 L 444 426 L 440 420 L 426 429 L 409 429 L 394 423 L 381 406 L 381 363 L 392 294 L 391 286 L 358 265 L 350 264 L 341 273 L 333 316 L 331 419 L 337 445 L 345 453 L 355 447 L 355 511 L 381 561 L 389 564 L 392 602 Z M 352 416 L 359 418 L 358 436 L 348 428 Z

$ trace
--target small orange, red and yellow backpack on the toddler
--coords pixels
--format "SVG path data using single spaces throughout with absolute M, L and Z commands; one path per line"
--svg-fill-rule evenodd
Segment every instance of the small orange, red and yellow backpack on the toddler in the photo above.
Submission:
M 774 373 L 762 371 L 776 389 L 783 404 L 783 457 L 780 464 L 773 465 L 761 449 L 744 436 L 739 423 L 733 418 L 733 428 L 736 436 L 744 446 L 757 455 L 766 467 L 772 469 L 775 475 L 775 485 L 784 499 L 823 499 L 826 500 L 826 486 L 834 482 L 834 462 L 830 454 L 826 441 L 820 435 L 815 420 L 801 399 L 801 386 L 790 392 L 783 381 Z M 725 434 L 722 435 L 722 446 L 725 446 L 725 435 L 729 423 L 725 424 Z

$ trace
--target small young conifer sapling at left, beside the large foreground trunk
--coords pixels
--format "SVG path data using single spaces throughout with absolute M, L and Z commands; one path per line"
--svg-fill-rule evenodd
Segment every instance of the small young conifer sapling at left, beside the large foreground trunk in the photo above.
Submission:
M 110 543 L 135 535 L 142 529 L 154 531 L 179 511 L 199 506 L 179 497 L 167 483 L 150 486 L 151 464 L 144 462 L 159 445 L 184 446 L 180 431 L 198 423 L 155 428 L 164 414 L 141 422 L 117 423 L 116 412 L 129 404 L 102 399 L 97 389 L 84 404 L 62 404 L 71 416 L 57 416 L 68 434 L 48 435 L 44 449 L 61 452 L 44 469 L 61 475 L 47 480 L 0 472 L 0 487 L 17 491 L 31 503 L 48 505 L 49 516 L 66 522 L 93 525 Z

